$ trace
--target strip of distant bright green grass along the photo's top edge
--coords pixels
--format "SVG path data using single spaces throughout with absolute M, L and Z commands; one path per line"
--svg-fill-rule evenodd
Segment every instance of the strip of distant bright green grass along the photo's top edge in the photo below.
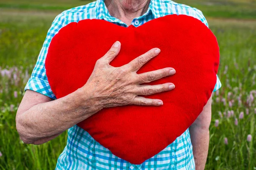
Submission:
M 89 2 L 91 0 L 0 0 L 0 8 L 64 11 Z M 207 17 L 256 18 L 256 0 L 176 0 L 175 2 L 198 8 Z

